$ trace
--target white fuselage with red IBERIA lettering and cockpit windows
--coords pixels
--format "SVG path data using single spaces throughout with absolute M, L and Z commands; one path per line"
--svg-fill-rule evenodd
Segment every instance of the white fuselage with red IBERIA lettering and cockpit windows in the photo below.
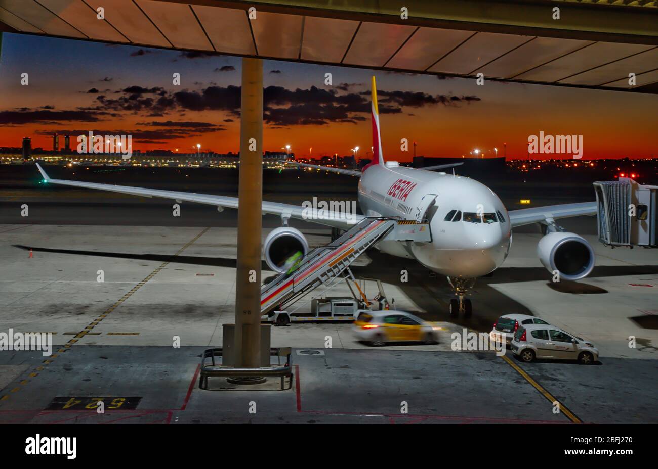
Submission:
M 368 216 L 427 219 L 431 242 L 380 242 L 377 247 L 393 256 L 417 259 L 441 275 L 481 277 L 497 269 L 509 252 L 511 223 L 503 202 L 468 177 L 372 165 L 359 181 L 359 204 Z M 445 220 L 451 211 L 461 212 L 459 221 Z

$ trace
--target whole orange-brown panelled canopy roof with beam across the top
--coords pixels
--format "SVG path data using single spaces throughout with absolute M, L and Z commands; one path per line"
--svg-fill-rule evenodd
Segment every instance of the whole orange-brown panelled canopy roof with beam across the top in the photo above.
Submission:
M 658 93 L 653 0 L 0 0 L 0 30 Z

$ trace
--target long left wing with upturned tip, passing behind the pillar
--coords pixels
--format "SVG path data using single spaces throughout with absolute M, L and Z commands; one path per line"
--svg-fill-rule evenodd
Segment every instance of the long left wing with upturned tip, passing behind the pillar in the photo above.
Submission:
M 114 184 L 85 183 L 83 181 L 64 181 L 63 179 L 51 179 L 43 168 L 37 163 L 37 168 L 43 176 L 43 181 L 49 184 L 63 186 L 84 187 L 85 189 L 109 190 L 141 197 L 161 197 L 176 200 L 176 202 L 196 202 L 197 204 L 214 205 L 218 209 L 238 208 L 238 198 L 231 196 L 217 196 L 211 194 L 197 194 L 196 192 L 178 192 L 176 190 L 145 189 L 142 187 L 119 186 Z M 278 202 L 266 202 L 263 200 L 263 213 L 280 215 L 282 217 L 296 218 L 313 223 L 320 223 L 334 228 L 350 229 L 365 218 L 364 215 L 351 214 L 351 218 L 345 217 L 345 213 L 334 213 L 330 211 L 324 219 L 309 219 L 305 217 L 304 207 L 280 204 Z

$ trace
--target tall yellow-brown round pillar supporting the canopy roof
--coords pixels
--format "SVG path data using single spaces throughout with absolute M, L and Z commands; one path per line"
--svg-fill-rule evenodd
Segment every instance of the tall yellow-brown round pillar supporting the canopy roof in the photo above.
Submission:
M 242 58 L 238 200 L 234 366 L 259 368 L 263 228 L 263 60 L 260 58 Z M 240 380 L 249 382 L 246 378 Z

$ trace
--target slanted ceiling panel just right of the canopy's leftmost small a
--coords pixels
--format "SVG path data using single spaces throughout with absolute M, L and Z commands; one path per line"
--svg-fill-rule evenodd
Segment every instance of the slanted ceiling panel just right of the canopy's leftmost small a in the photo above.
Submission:
M 105 19 L 131 42 L 160 47 L 171 46 L 132 0 L 86 0 L 86 2 L 93 9 L 103 7 Z

